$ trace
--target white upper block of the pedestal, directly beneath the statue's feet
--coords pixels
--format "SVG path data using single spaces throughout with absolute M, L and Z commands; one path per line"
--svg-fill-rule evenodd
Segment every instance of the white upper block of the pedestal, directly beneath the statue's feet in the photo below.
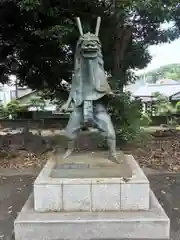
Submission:
M 60 164 L 57 167 L 57 160 L 48 160 L 34 183 L 36 211 L 149 209 L 149 181 L 133 156 L 126 155 L 121 164 L 112 163 L 98 153 L 80 154 L 69 161 L 75 166 L 91 166 L 64 169 Z

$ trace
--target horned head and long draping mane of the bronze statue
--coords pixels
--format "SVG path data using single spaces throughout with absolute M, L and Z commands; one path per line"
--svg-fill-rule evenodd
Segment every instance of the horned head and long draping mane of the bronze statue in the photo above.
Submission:
M 80 19 L 77 18 L 80 37 L 74 56 L 74 75 L 71 88 L 72 97 L 77 106 L 84 101 L 83 86 L 86 86 L 85 94 L 87 94 L 87 89 L 93 88 L 91 100 L 100 99 L 111 91 L 104 71 L 101 43 L 98 37 L 100 23 L 101 18 L 98 17 L 95 33 L 84 34 Z M 94 94 L 94 92 L 96 93 Z M 91 94 L 91 90 L 88 94 Z

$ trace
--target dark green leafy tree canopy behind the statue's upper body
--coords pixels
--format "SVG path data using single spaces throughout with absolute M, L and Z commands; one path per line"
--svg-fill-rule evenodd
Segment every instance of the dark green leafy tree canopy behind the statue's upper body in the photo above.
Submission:
M 14 73 L 20 84 L 62 97 L 60 82 L 71 81 L 79 36 L 75 17 L 81 18 L 84 31 L 94 31 L 101 16 L 105 69 L 119 79 L 121 87 L 133 80 L 130 69 L 149 63 L 149 45 L 179 36 L 179 11 L 176 0 L 3 0 L 0 81 L 6 82 Z M 160 28 L 172 20 L 174 28 Z

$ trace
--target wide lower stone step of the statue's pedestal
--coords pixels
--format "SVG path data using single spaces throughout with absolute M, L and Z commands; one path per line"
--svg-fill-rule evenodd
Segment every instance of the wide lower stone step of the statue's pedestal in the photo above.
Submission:
M 169 239 L 170 222 L 156 197 L 149 211 L 37 213 L 33 196 L 14 223 L 16 240 Z

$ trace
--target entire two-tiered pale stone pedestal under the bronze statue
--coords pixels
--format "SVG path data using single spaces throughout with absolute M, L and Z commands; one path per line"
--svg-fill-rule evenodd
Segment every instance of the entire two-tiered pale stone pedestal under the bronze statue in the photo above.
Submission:
M 48 160 L 15 220 L 16 240 L 168 239 L 169 219 L 133 156 L 115 164 L 102 154 Z

